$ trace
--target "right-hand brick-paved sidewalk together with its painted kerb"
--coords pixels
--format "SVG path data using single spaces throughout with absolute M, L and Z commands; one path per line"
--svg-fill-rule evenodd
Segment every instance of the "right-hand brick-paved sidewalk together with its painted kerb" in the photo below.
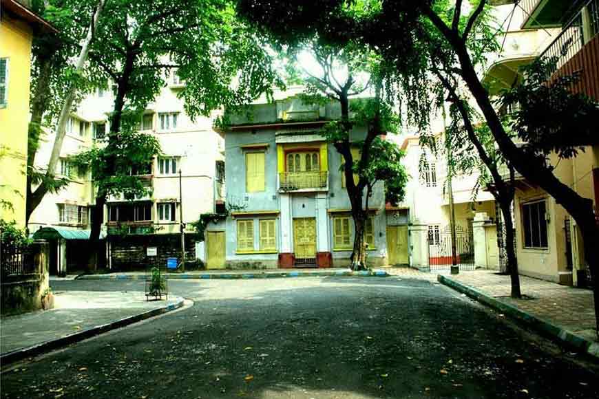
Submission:
M 531 277 L 520 277 L 523 299 L 512 299 L 509 276 L 475 270 L 439 276 L 439 282 L 521 319 L 554 338 L 588 347 L 599 356 L 593 292 Z

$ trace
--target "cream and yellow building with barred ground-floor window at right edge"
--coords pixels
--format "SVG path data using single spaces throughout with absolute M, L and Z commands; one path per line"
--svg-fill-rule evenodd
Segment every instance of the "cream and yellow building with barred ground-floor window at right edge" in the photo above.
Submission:
M 519 65 L 534 58 L 557 57 L 547 79 L 580 74 L 573 90 L 599 100 L 599 0 L 495 1 L 504 12 L 514 10 L 503 52 L 485 81 L 492 94 L 521 78 Z M 517 4 L 516 4 L 517 3 Z M 587 147 L 576 158 L 551 155 L 554 174 L 582 197 L 599 197 L 599 148 Z M 584 285 L 588 266 L 574 219 L 543 189 L 516 175 L 514 201 L 516 255 L 522 274 L 565 284 Z

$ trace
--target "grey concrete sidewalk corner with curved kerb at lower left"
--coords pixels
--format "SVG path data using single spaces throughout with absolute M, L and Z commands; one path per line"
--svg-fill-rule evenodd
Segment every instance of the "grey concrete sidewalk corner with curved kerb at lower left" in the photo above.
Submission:
M 2 363 L 175 310 L 183 305 L 183 299 L 173 295 L 167 301 L 148 302 L 144 292 L 69 291 L 55 292 L 54 305 L 52 310 L 0 320 Z M 28 352 L 30 348 L 37 349 Z

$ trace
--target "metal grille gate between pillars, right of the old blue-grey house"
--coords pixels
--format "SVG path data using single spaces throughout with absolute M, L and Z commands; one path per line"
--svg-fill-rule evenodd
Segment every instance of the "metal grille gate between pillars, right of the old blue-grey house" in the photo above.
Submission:
M 432 227 L 432 228 L 431 228 Z M 456 226 L 456 264 L 460 270 L 474 270 L 472 234 Z M 430 270 L 449 270 L 452 266 L 452 235 L 450 226 L 430 226 L 428 230 L 428 265 Z

